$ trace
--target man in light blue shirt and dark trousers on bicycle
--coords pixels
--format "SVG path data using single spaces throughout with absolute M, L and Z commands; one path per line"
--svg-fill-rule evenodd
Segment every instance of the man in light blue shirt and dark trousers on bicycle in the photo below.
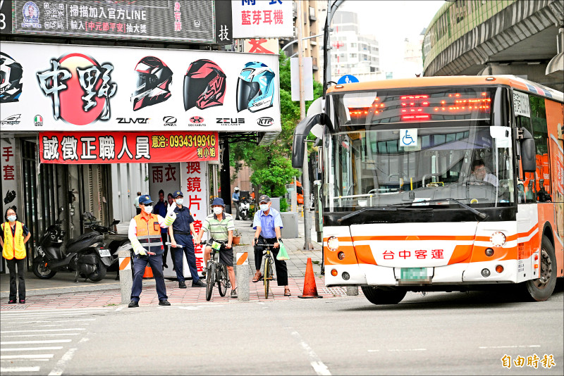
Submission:
M 255 246 L 255 268 L 257 272 L 252 282 L 259 282 L 264 275 L 260 272 L 262 264 L 262 253 L 264 246 L 261 244 L 273 244 L 274 249 L 274 265 L 276 267 L 276 275 L 278 276 L 278 286 L 284 287 L 284 296 L 290 296 L 290 287 L 288 287 L 288 268 L 286 261 L 281 261 L 276 258 L 278 251 L 280 251 L 280 242 L 282 242 L 281 228 L 282 218 L 276 209 L 271 208 L 272 201 L 269 196 L 263 194 L 259 197 L 260 210 L 255 213 L 255 219 L 252 223 L 252 228 L 255 231 L 255 240 L 252 245 Z

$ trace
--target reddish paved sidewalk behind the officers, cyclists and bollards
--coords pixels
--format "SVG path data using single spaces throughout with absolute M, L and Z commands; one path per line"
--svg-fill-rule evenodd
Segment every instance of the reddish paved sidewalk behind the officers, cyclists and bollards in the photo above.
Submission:
M 321 245 L 314 242 L 316 239 L 315 232 L 312 231 L 312 244 L 314 250 L 304 251 L 304 226 L 303 218 L 299 218 L 300 222 L 300 237 L 295 239 L 284 239 L 284 244 L 288 250 L 290 260 L 286 261 L 288 265 L 288 285 L 292 296 L 283 296 L 283 287 L 278 287 L 276 281 L 271 283 L 271 292 L 274 296 L 269 299 L 294 299 L 300 295 L 303 289 L 305 268 L 307 258 L 312 258 L 313 270 L 317 284 L 317 290 L 321 296 L 335 296 L 345 294 L 343 289 L 326 289 L 324 287 L 324 279 L 320 275 L 321 271 Z M 255 274 L 255 254 L 252 246 L 250 245 L 254 237 L 255 230 L 252 230 L 251 221 L 236 220 L 235 227 L 241 232 L 241 243 L 235 246 L 234 253 L 247 251 L 250 264 L 250 279 Z M 121 230 L 121 229 L 120 229 Z M 126 229 L 125 229 L 126 231 Z M 275 273 L 276 275 L 276 273 Z M 0 302 L 1 309 L 16 309 L 27 308 L 35 306 L 40 308 L 46 304 L 50 307 L 61 306 L 92 306 L 100 304 L 119 304 L 121 303 L 120 284 L 115 280 L 116 273 L 110 272 L 106 278 L 101 282 L 91 282 L 84 279 L 74 282 L 74 273 L 59 272 L 51 280 L 39 280 L 32 272 L 27 272 L 25 275 L 26 284 L 26 301 L 23 305 L 6 305 L 9 295 L 9 275 L 0 275 Z M 167 281 L 167 293 L 171 303 L 195 303 L 197 301 L 205 301 L 205 289 L 190 287 L 191 282 L 187 281 L 188 289 L 178 289 L 176 281 Z M 140 303 L 154 303 L 157 300 L 157 294 L 154 289 L 154 280 L 144 280 L 144 293 L 142 294 Z M 264 286 L 262 282 L 250 282 L 251 300 L 264 299 Z M 41 296 L 41 297 L 39 297 Z M 233 300 L 228 298 L 221 298 L 216 289 L 214 289 L 214 301 L 228 301 Z

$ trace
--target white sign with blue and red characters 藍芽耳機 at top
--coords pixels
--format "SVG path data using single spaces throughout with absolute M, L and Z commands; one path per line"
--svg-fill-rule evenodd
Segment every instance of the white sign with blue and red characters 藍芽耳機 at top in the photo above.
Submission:
M 292 0 L 233 0 L 233 38 L 294 36 Z

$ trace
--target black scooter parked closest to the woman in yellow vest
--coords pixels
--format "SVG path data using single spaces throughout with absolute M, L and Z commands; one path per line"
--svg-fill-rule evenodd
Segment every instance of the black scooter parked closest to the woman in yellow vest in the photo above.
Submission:
M 63 210 L 59 208 L 59 215 Z M 88 218 L 86 213 L 85 216 Z M 33 260 L 33 273 L 36 277 L 48 280 L 61 270 L 74 270 L 75 282 L 78 281 L 79 275 L 93 282 L 98 282 L 106 276 L 106 268 L 112 263 L 112 255 L 109 249 L 104 247 L 104 233 L 115 232 L 109 227 L 96 225 L 92 218 L 90 225 L 85 227 L 90 227 L 93 231 L 69 239 L 65 244 L 65 251 L 61 249 L 65 235 L 61 228 L 62 221 L 57 219 L 53 225 L 47 227 L 37 246 L 39 256 Z M 114 221 L 111 226 L 118 222 Z

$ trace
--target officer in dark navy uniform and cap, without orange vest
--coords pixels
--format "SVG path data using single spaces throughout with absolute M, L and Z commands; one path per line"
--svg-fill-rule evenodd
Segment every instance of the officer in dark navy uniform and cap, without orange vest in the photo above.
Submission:
M 188 261 L 188 268 L 192 275 L 192 287 L 205 287 L 204 282 L 198 277 L 198 270 L 196 268 L 196 253 L 194 251 L 194 241 L 192 234 L 196 236 L 194 229 L 194 218 L 190 215 L 190 209 L 183 206 L 184 196 L 182 192 L 176 191 L 173 193 L 173 199 L 176 201 L 176 220 L 174 220 L 171 227 L 168 227 L 168 234 L 171 236 L 171 250 L 176 259 L 176 278 L 178 279 L 178 288 L 185 289 L 186 283 L 184 280 L 184 263 L 183 255 L 186 255 Z M 176 246 L 180 245 L 182 248 L 178 249 Z

